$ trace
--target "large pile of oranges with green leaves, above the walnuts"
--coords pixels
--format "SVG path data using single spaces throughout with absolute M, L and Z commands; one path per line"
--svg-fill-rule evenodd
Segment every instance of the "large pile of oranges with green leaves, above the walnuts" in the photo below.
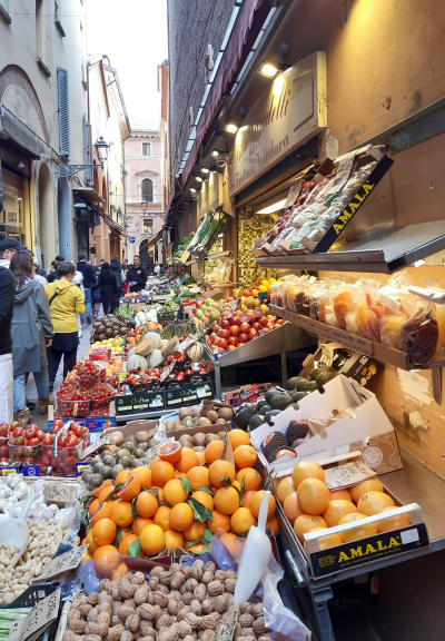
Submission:
M 235 467 L 221 460 L 221 441 L 205 452 L 172 442 L 159 447 L 150 467 L 123 470 L 115 485 L 105 481 L 92 492 L 85 561 L 92 559 L 109 575 L 118 571 L 120 554 L 145 559 L 166 548 L 170 554 L 175 548 L 199 553 L 218 527 L 233 539 L 247 536 L 257 523 L 263 481 L 248 434 L 233 430 L 228 437 Z M 270 496 L 267 526 L 278 534 L 275 509 Z

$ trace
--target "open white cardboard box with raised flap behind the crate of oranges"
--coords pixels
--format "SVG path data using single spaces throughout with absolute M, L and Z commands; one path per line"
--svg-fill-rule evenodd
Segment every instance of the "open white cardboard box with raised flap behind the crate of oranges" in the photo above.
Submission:
M 301 443 L 295 451 L 295 458 L 285 455 L 273 464 L 266 462 L 260 446 L 268 434 L 275 431 L 285 434 L 290 421 L 309 418 L 317 418 L 319 421 L 329 420 L 336 412 L 346 412 L 346 414 L 326 428 L 320 427 L 317 434 Z M 271 421 L 275 421 L 273 426 L 265 423 L 254 430 L 250 433 L 250 440 L 257 448 L 258 455 L 266 469 L 270 471 L 274 467 L 275 472 L 293 469 L 296 463 L 304 458 L 319 461 L 337 454 L 345 454 L 350 452 L 352 443 L 360 444 L 365 458 L 365 452 L 369 447 L 368 443 L 370 438 L 394 434 L 394 427 L 382 405 L 378 403 L 377 397 L 355 381 L 342 375 L 329 381 L 329 383 L 325 385 L 323 394 L 317 389 L 303 398 L 303 401 L 299 402 L 299 410 L 289 407 Z M 376 456 L 379 465 L 384 461 L 384 454 L 385 452 L 380 451 L 378 456 Z M 400 469 L 402 460 L 397 458 L 397 465 L 393 466 L 389 454 L 387 455 L 388 458 L 385 458 L 385 467 L 387 471 Z M 368 458 L 372 461 L 373 456 L 368 456 Z M 369 462 L 368 465 L 373 467 Z

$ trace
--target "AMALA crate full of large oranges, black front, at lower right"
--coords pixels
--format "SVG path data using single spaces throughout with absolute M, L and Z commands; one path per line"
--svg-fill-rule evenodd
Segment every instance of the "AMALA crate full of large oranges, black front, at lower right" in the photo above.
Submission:
M 403 505 L 376 476 L 329 490 L 324 467 L 337 458 L 301 461 L 273 482 L 283 534 L 314 579 L 429 544 L 421 507 Z

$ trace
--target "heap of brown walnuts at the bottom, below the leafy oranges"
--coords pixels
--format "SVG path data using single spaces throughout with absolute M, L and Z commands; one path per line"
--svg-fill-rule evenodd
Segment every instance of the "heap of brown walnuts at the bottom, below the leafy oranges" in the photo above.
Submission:
M 217 622 L 234 608 L 237 575 L 197 560 L 192 568 L 157 565 L 146 581 L 127 572 L 100 581 L 100 593 L 72 601 L 62 641 L 215 641 Z M 243 603 L 234 639 L 270 641 L 263 603 Z

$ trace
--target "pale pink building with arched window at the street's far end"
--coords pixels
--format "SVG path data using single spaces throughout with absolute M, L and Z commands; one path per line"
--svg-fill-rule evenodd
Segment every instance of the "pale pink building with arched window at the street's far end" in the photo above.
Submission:
M 162 228 L 165 208 L 161 140 L 155 124 L 131 120 L 125 171 L 128 260 L 139 255 L 142 265 L 161 262 L 158 244 L 152 243 Z

